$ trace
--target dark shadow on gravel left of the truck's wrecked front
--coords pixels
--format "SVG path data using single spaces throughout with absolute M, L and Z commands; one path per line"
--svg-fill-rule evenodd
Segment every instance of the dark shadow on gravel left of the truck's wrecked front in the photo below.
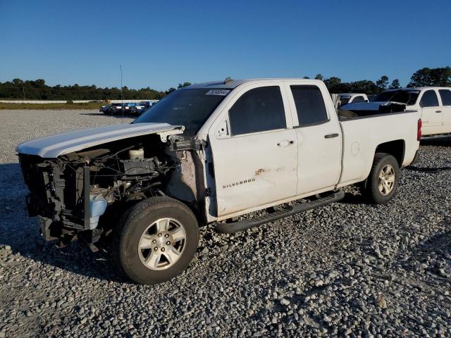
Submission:
M 30 258 L 87 277 L 127 282 L 114 269 L 108 252 L 93 253 L 78 242 L 58 249 L 55 242 L 42 239 L 37 220 L 29 218 L 25 211 L 28 191 L 18 163 L 0 165 L 0 187 L 0 246 L 11 246 L 13 256 Z

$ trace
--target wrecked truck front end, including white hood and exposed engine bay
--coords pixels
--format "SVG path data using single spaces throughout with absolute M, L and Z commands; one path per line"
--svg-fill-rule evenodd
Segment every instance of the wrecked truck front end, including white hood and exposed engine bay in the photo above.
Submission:
M 171 196 L 199 210 L 205 143 L 167 124 L 113 125 L 24 142 L 17 148 L 42 236 L 92 249 L 131 204 Z M 201 177 L 197 180 L 197 176 Z

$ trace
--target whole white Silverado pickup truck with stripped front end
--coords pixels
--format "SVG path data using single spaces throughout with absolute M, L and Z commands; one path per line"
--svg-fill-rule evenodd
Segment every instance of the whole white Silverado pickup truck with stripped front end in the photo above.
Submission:
M 319 80 L 226 79 L 178 89 L 130 125 L 17 152 L 45 239 L 96 249 L 113 234 L 118 266 L 152 284 L 187 267 L 199 225 L 246 230 L 339 201 L 354 183 L 387 203 L 420 136 L 416 113 L 339 117 Z M 252 211 L 264 215 L 236 219 Z

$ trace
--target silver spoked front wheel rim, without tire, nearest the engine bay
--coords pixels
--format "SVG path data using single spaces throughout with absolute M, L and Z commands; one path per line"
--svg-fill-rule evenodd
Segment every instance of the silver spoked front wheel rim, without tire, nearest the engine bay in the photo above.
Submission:
M 160 218 L 149 225 L 138 242 L 141 263 L 150 270 L 171 268 L 182 256 L 186 231 L 174 218 Z

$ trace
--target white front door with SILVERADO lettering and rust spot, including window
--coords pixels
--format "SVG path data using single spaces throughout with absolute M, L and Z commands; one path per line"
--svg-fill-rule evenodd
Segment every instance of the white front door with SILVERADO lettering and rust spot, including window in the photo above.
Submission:
M 295 196 L 296 133 L 280 82 L 235 94 L 211 125 L 209 142 L 218 217 Z

